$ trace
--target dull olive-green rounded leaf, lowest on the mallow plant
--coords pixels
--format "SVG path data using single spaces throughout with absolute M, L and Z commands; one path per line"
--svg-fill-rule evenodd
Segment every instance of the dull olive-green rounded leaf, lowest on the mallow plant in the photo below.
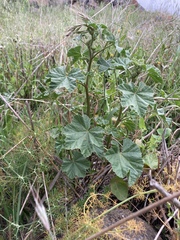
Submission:
M 114 177 L 110 182 L 111 192 L 120 200 L 124 201 L 128 196 L 128 184 L 122 178 Z

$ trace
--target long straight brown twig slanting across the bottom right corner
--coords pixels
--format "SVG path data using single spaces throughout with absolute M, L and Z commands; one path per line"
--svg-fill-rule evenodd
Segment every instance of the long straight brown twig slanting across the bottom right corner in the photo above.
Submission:
M 127 221 L 129 221 L 129 220 L 131 220 L 131 219 L 134 219 L 135 217 L 138 217 L 138 216 L 140 216 L 140 215 L 142 215 L 142 214 L 144 214 L 144 213 L 146 213 L 146 212 L 149 212 L 149 211 L 152 210 L 153 208 L 156 208 L 156 207 L 158 207 L 159 205 L 162 205 L 162 204 L 164 204 L 164 203 L 166 203 L 166 202 L 168 202 L 168 201 L 171 201 L 173 198 L 176 198 L 176 197 L 179 197 L 179 196 L 180 196 L 180 192 L 177 192 L 177 193 L 174 193 L 174 194 L 172 194 L 172 195 L 170 195 L 170 196 L 168 196 L 168 197 L 165 197 L 165 198 L 159 200 L 158 202 L 152 203 L 151 205 L 149 205 L 149 206 L 141 209 L 140 211 L 137 211 L 137 212 L 135 212 L 135 213 L 132 213 L 130 216 L 128 216 L 128 217 L 126 217 L 126 218 L 124 218 L 124 219 L 121 219 L 121 220 L 117 221 L 115 224 L 112 224 L 111 226 L 109 226 L 109 227 L 107 227 L 107 228 L 104 228 L 103 230 L 101 230 L 101 231 L 98 232 L 98 233 L 93 234 L 92 236 L 86 238 L 86 240 L 95 239 L 95 238 L 103 235 L 104 233 L 106 233 L 106 232 L 108 232 L 108 231 L 110 231 L 110 230 L 118 227 L 119 225 L 124 224 L 125 222 L 127 222 Z

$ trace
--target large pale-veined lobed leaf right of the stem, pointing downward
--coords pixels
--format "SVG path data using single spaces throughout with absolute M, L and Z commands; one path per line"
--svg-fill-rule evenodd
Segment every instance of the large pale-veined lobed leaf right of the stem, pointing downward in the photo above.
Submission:
M 144 116 L 147 107 L 154 105 L 153 90 L 140 82 L 138 86 L 134 83 L 122 84 L 119 86 L 122 92 L 121 104 L 123 107 L 132 106 L 139 116 Z

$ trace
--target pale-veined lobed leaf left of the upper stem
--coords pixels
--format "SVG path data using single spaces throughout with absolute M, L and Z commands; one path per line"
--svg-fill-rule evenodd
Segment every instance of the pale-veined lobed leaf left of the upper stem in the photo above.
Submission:
M 56 93 L 61 93 L 65 88 L 69 92 L 72 92 L 76 88 L 76 81 L 84 82 L 85 76 L 80 69 L 72 69 L 69 73 L 66 72 L 66 67 L 61 66 L 53 68 L 46 79 L 50 79 L 49 88 Z

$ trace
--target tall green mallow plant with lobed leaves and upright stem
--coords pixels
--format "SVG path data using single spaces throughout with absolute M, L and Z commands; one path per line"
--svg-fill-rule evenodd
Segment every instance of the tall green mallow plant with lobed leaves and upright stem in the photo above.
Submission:
M 147 134 L 151 113 L 157 114 L 154 91 L 145 82 L 161 83 L 161 74 L 121 47 L 103 24 L 83 17 L 83 24 L 68 35 L 73 42 L 69 61 L 46 76 L 49 98 L 71 113 L 55 134 L 62 171 L 79 179 L 98 173 L 96 161 L 110 163 L 116 175 L 111 189 L 117 195 L 119 187 L 127 189 L 142 174 L 144 160 L 136 140 Z M 143 81 L 134 78 L 136 69 L 144 73 Z

